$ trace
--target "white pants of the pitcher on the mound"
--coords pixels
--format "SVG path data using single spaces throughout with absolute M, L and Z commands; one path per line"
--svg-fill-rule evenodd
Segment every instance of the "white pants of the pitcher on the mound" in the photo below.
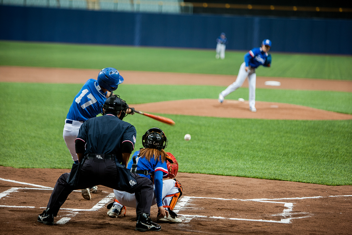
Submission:
M 246 63 L 243 62 L 241 64 L 240 70 L 238 71 L 236 81 L 228 86 L 221 94 L 226 97 L 226 95 L 230 94 L 231 92 L 237 90 L 237 88 L 241 87 L 244 80 L 248 77 L 248 86 L 249 86 L 249 106 L 255 107 L 256 106 L 256 80 L 257 74 L 256 69 L 249 67 L 248 72 L 245 69 Z

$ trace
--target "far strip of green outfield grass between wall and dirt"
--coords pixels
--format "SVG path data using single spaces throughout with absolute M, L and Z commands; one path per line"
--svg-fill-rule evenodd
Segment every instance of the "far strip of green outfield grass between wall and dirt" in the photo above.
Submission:
M 0 41 L 0 65 L 237 75 L 246 52 Z M 352 56 L 270 53 L 258 76 L 352 80 Z

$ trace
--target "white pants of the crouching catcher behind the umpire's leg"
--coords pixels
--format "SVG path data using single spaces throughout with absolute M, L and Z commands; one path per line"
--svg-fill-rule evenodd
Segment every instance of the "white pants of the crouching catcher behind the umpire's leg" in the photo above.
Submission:
M 169 194 L 175 194 L 178 193 L 178 188 L 175 187 L 176 181 L 173 179 L 168 179 L 168 180 L 163 180 L 163 193 L 162 193 L 162 199 L 163 199 L 163 206 L 168 206 L 171 202 L 172 197 L 165 197 L 166 195 Z M 114 205 L 119 205 L 119 206 L 128 206 L 128 207 L 133 207 L 136 208 L 136 196 L 134 193 L 128 193 L 124 191 L 118 191 L 114 189 L 114 194 L 116 199 L 120 202 L 114 202 Z M 153 202 L 152 205 L 156 204 L 156 197 L 155 197 L 155 185 L 154 185 L 154 196 L 153 196 Z

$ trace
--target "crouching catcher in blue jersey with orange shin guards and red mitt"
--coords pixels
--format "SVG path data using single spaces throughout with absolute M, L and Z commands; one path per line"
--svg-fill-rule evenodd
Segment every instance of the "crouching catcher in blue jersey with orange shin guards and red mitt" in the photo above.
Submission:
M 166 153 L 165 148 L 168 140 L 164 132 L 159 128 L 151 128 L 142 137 L 144 148 L 136 151 L 127 168 L 131 172 L 149 178 L 154 185 L 154 196 L 152 205 L 158 206 L 158 221 L 181 223 L 182 219 L 172 211 L 176 202 L 182 195 L 181 183 L 174 178 L 178 171 L 178 163 L 171 153 Z M 118 217 L 126 207 L 136 208 L 135 194 L 114 190 L 116 199 L 108 205 L 108 216 Z

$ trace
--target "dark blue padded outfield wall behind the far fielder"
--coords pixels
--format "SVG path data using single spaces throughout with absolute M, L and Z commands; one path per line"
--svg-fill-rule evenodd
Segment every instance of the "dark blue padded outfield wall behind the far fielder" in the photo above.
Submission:
M 352 54 L 352 20 L 153 14 L 0 6 L 0 39 L 153 47 Z

